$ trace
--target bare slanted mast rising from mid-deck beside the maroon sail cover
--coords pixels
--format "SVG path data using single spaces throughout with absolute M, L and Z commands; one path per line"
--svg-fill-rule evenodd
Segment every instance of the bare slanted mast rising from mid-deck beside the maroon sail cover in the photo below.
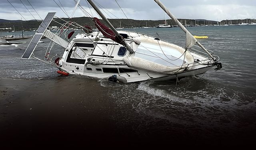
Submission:
M 124 38 L 122 38 L 122 36 L 116 31 L 116 29 L 114 28 L 114 26 L 108 21 L 108 19 L 104 16 L 104 14 L 102 14 L 102 12 L 95 6 L 95 4 L 92 2 L 92 0 L 87 0 L 90 5 L 92 6 L 92 8 L 94 8 L 94 10 L 100 15 L 100 17 L 108 24 L 108 26 L 111 28 L 111 30 L 116 34 L 116 36 L 122 41 L 122 45 L 124 47 L 126 47 L 126 49 L 130 52 L 130 53 L 134 53 L 134 51 L 132 50 L 132 48 L 124 41 Z M 121 24 L 121 22 L 120 22 Z

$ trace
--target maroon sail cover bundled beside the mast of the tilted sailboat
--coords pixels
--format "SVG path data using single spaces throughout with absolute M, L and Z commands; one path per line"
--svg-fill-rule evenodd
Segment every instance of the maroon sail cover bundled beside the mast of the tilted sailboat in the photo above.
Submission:
M 100 20 L 96 17 L 93 18 L 93 21 L 95 22 L 95 26 L 100 30 L 100 32 L 106 36 L 107 38 L 110 38 L 111 40 L 118 42 L 119 44 L 122 44 L 122 41 L 116 36 L 114 31 L 112 31 L 110 28 L 102 24 Z

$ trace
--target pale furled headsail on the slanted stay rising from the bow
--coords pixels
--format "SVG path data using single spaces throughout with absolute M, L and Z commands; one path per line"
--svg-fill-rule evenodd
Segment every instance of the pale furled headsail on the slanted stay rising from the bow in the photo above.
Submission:
M 179 22 L 179 20 L 173 16 L 173 14 L 160 2 L 160 0 L 154 0 L 165 12 L 172 18 L 172 20 L 186 33 L 186 49 L 191 48 L 195 43 L 198 44 L 213 60 L 216 60 L 209 52 L 196 40 L 194 36 Z

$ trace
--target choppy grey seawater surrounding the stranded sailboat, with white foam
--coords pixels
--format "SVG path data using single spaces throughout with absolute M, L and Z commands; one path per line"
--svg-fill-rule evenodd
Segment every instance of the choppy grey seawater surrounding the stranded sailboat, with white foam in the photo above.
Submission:
M 208 36 L 199 42 L 220 57 L 223 68 L 203 76 L 183 78 L 176 82 L 146 81 L 117 84 L 98 80 L 118 107 L 113 119 L 120 126 L 132 126 L 134 132 L 188 132 L 216 134 L 250 132 L 256 129 L 256 26 L 188 27 L 192 35 Z M 126 29 L 127 30 L 127 29 Z M 131 29 L 133 30 L 133 29 Z M 185 46 L 185 34 L 179 28 L 146 28 L 137 32 L 149 34 L 179 46 Z M 35 54 L 44 56 L 49 40 L 42 39 Z M 23 44 L 0 45 L 0 78 L 51 82 L 61 78 L 52 68 L 37 60 L 22 60 L 30 40 Z M 52 50 L 63 54 L 63 48 Z M 70 77 L 66 78 L 69 80 Z M 81 80 L 91 80 L 89 78 Z M 85 89 L 86 90 L 86 89 Z M 171 129 L 170 129 L 171 128 Z M 182 132 L 182 131 L 180 131 Z

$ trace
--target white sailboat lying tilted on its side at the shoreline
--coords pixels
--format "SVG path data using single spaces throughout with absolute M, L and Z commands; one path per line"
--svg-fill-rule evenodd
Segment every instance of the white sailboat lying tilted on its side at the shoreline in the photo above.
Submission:
M 75 22 L 66 22 L 56 34 L 46 30 L 55 13 L 50 12 L 38 28 L 22 58 L 30 56 L 58 68 L 62 75 L 80 75 L 89 78 L 108 78 L 114 82 L 142 82 L 145 80 L 170 80 L 204 74 L 214 68 L 219 70 L 222 64 L 219 57 L 206 50 L 196 38 L 167 10 L 159 0 L 154 0 L 174 22 L 186 33 L 186 47 L 182 48 L 170 42 L 146 34 L 116 30 L 92 0 L 87 0 L 100 17 L 108 24 L 105 26 L 98 18 L 94 24 L 98 31 Z M 60 38 L 64 29 L 80 28 L 84 32 L 76 35 L 71 41 Z M 66 31 L 67 32 L 67 31 Z M 59 44 L 65 50 L 62 56 L 51 55 L 51 46 L 46 50 L 44 60 L 34 55 L 42 34 Z M 52 43 L 51 43 L 52 44 Z M 198 44 L 201 51 L 196 50 Z

